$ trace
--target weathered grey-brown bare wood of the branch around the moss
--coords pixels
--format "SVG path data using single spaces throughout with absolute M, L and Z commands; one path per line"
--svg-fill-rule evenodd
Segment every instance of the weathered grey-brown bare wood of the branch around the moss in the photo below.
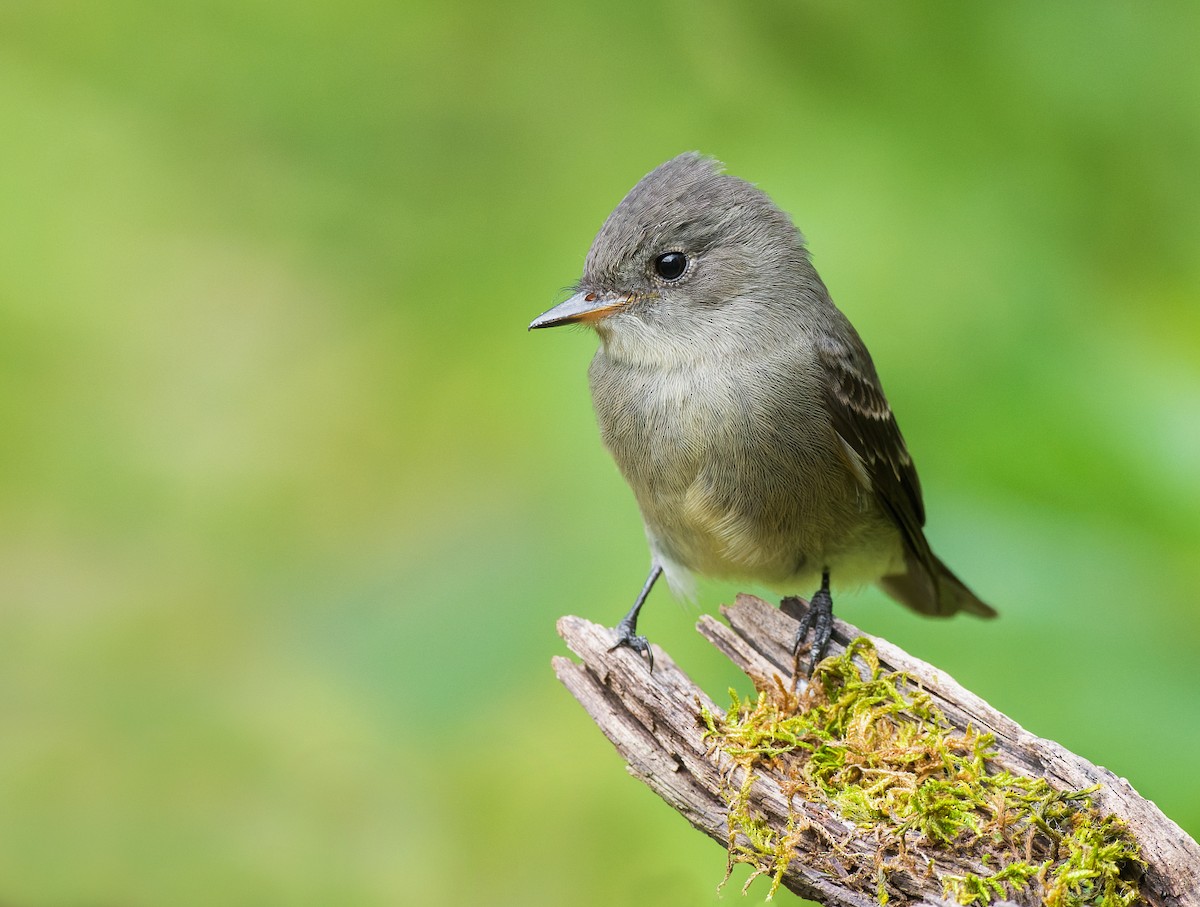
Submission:
M 728 626 L 704 617 L 698 624 L 700 632 L 761 689 L 775 683 L 775 677 L 782 683 L 793 683 L 796 662 L 786 647 L 796 629 L 792 617 L 748 595 L 739 596 L 737 603 L 722 608 L 722 613 Z M 558 678 L 613 743 L 630 774 L 692 825 L 726 846 L 730 834 L 727 797 L 731 788 L 738 789 L 743 783 L 743 769 L 706 739 L 700 717 L 701 708 L 716 715 L 724 714 L 722 709 L 658 647 L 650 672 L 644 660 L 629 649 L 611 649 L 613 633 L 608 629 L 581 618 L 564 617 L 558 623 L 558 631 L 581 659 L 576 662 L 556 657 Z M 829 654 L 844 651 L 860 636 L 866 635 L 836 620 Z M 1128 781 L 1052 740 L 1028 733 L 931 665 L 883 639 L 868 638 L 876 647 L 881 666 L 912 678 L 931 696 L 954 728 L 965 731 L 971 726 L 994 734 L 997 768 L 1044 777 L 1057 789 L 1098 785 L 1099 789 L 1092 794 L 1094 806 L 1127 822 L 1141 847 L 1146 863 L 1141 895 L 1147 905 L 1200 907 L 1200 846 L 1153 803 L 1141 798 Z M 828 871 L 830 848 L 840 848 L 840 853 L 854 848 L 869 851 L 870 835 L 862 834 L 828 805 L 797 803 L 796 798 L 787 797 L 769 771 L 755 773 L 749 795 L 755 815 L 763 817 L 780 835 L 790 822 L 790 806 L 791 829 L 797 824 L 809 829 L 803 835 L 791 835 L 796 857 L 784 872 L 785 887 L 832 907 L 874 907 L 877 903 L 862 879 L 838 877 Z M 817 859 L 821 854 L 827 859 Z M 923 853 L 922 859 L 928 860 L 928 866 L 936 864 L 937 875 L 989 871 L 988 866 L 972 861 L 970 854 L 959 858 L 953 848 L 932 857 Z M 815 869 L 822 865 L 826 870 Z M 889 883 L 894 891 L 901 893 L 892 903 L 946 903 L 932 872 L 893 872 Z M 1024 903 L 1026 897 L 1033 896 L 1031 890 L 1018 900 Z M 1040 900 L 1034 902 L 1040 903 Z

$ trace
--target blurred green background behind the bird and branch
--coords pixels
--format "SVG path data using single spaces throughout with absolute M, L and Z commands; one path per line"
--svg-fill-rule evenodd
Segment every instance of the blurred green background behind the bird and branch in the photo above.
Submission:
M 647 553 L 594 337 L 526 332 L 688 149 L 804 229 L 1002 612 L 841 615 L 1200 835 L 1196 34 L 1183 2 L 7 0 L 0 900 L 716 902 L 720 848 L 551 673 Z M 643 627 L 744 690 L 697 614 L 660 590 Z

